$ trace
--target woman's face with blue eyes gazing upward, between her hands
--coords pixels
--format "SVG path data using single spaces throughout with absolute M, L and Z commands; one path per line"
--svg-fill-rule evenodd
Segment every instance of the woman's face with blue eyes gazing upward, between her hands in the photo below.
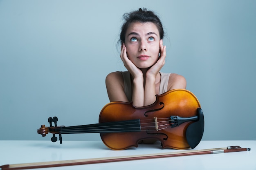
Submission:
M 159 41 L 159 31 L 153 22 L 131 23 L 125 39 L 128 58 L 138 68 L 153 66 L 159 57 Z

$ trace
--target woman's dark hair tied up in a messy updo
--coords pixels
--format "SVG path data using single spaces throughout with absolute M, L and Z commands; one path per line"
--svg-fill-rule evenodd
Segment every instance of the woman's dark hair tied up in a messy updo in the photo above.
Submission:
M 133 22 L 153 22 L 159 31 L 160 40 L 164 38 L 164 29 L 162 26 L 162 22 L 160 21 L 159 17 L 155 15 L 153 11 L 148 11 L 146 8 L 141 9 L 139 8 L 138 11 L 132 11 L 130 13 L 125 13 L 124 17 L 124 24 L 121 27 L 120 39 L 119 42 L 123 44 L 125 42 L 125 35 L 128 29 L 128 26 Z

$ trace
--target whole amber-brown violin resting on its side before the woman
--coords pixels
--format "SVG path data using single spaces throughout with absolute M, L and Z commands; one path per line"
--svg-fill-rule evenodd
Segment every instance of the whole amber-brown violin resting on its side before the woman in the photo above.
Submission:
M 57 117 L 49 117 L 49 127 L 37 130 L 43 137 L 62 143 L 62 134 L 100 133 L 103 143 L 112 150 L 138 147 L 141 140 L 161 141 L 162 148 L 195 148 L 204 132 L 204 115 L 198 99 L 185 89 L 156 95 L 156 101 L 143 107 L 132 102 L 110 102 L 99 115 L 99 123 L 80 126 L 57 126 Z M 54 126 L 52 125 L 54 122 Z

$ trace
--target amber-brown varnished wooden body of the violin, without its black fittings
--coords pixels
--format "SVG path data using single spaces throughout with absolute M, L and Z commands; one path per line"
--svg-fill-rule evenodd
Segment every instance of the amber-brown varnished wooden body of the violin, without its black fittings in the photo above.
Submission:
M 135 107 L 132 102 L 111 102 L 101 110 L 99 123 L 140 119 L 141 121 L 151 120 L 155 124 L 155 117 L 161 121 L 161 118 L 166 119 L 173 115 L 179 117 L 196 116 L 198 115 L 198 108 L 200 108 L 200 103 L 193 93 L 184 89 L 175 89 L 162 95 L 156 95 L 155 103 L 149 106 Z M 202 138 L 204 128 L 202 126 L 203 117 L 201 119 L 199 141 Z M 174 128 L 168 125 L 169 127 L 158 131 L 142 130 L 140 132 L 100 133 L 100 135 L 103 143 L 112 150 L 138 147 L 139 141 L 144 139 L 159 140 L 162 142 L 163 148 L 186 149 L 191 148 L 186 140 L 186 130 L 191 123 L 193 121 L 187 121 Z

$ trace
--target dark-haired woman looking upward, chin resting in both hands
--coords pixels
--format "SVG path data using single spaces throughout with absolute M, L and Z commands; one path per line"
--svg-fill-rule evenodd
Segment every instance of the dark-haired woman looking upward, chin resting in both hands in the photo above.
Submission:
M 139 9 L 124 14 L 120 33 L 121 60 L 128 71 L 113 72 L 106 77 L 110 102 L 132 102 L 134 106 L 148 106 L 155 95 L 175 88 L 186 88 L 183 76 L 161 73 L 166 57 L 162 23 L 153 11 Z

